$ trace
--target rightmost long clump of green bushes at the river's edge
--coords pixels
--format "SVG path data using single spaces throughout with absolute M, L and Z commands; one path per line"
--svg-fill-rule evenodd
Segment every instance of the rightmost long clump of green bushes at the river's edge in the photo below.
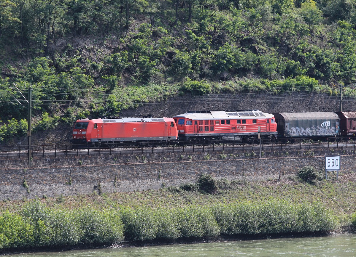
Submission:
M 335 227 L 332 214 L 320 204 L 282 200 L 219 204 L 213 207 L 213 213 L 220 233 L 226 235 L 324 232 Z

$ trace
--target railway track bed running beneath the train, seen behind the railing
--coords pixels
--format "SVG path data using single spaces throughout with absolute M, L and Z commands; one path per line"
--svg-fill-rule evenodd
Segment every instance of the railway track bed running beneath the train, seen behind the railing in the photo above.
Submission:
M 242 143 L 237 144 L 234 142 L 224 142 L 217 144 L 203 144 L 200 143 L 190 143 L 188 145 L 167 145 L 167 146 L 121 146 L 120 148 L 116 147 L 99 147 L 99 148 L 72 148 L 72 145 L 32 145 L 31 146 L 31 156 L 48 156 L 48 155 L 58 155 L 58 156 L 67 156 L 67 155 L 94 155 L 94 154 L 127 154 L 127 153 L 154 153 L 154 152 L 197 152 L 197 151 L 259 151 L 267 149 L 276 149 L 276 150 L 297 150 L 297 149 L 328 149 L 328 148 L 339 148 L 342 147 L 344 150 L 351 149 L 356 150 L 355 141 L 334 141 L 334 142 L 324 142 L 319 140 L 318 142 L 268 142 L 262 143 L 261 146 L 258 143 Z M 27 145 L 22 146 L 0 146 L 0 157 L 4 159 L 10 158 L 13 156 L 27 156 L 28 147 Z

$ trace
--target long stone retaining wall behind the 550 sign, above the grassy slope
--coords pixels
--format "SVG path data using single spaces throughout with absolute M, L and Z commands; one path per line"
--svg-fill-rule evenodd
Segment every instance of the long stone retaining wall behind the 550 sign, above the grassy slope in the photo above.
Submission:
M 279 172 L 295 174 L 307 165 L 323 169 L 324 156 L 0 168 L 0 200 L 159 189 L 195 182 L 202 173 L 229 180 L 263 180 L 277 178 Z M 341 156 L 341 172 L 355 170 L 355 156 Z

